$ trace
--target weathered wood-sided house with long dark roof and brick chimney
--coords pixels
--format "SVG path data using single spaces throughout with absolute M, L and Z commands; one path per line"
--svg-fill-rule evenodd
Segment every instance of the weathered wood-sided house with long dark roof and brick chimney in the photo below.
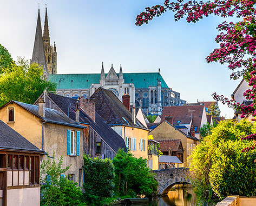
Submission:
M 126 151 L 126 145 L 122 137 L 97 114 L 95 105 L 90 108 L 84 107 L 84 105 L 87 105 L 84 102 L 90 101 L 89 99 L 80 98 L 76 100 L 51 92 L 43 92 L 34 104 L 38 105 L 38 100 L 42 97 L 45 99 L 45 107 L 55 109 L 87 127 L 83 129 L 85 154 L 91 157 L 110 158 L 112 160 L 119 149 Z M 80 103 L 78 110 L 76 109 L 77 103 Z M 90 103 L 94 104 L 93 101 L 90 101 Z

